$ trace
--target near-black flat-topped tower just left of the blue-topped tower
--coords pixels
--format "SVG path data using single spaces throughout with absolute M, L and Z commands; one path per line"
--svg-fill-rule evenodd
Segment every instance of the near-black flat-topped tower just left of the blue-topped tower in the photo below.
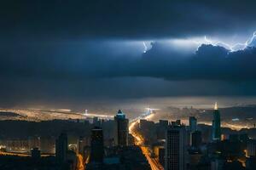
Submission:
M 104 155 L 103 131 L 101 127 L 91 129 L 90 161 L 102 162 Z

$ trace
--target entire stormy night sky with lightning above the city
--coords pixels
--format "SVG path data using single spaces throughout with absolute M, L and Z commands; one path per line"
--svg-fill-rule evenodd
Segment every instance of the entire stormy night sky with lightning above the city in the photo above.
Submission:
M 256 95 L 256 1 L 3 0 L 0 106 Z

